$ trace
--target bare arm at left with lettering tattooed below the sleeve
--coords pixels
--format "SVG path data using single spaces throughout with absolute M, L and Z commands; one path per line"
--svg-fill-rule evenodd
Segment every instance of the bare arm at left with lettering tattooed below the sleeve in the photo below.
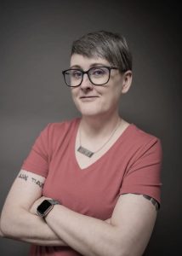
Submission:
M 1 236 L 44 246 L 66 246 L 43 218 L 31 213 L 34 201 L 42 196 L 45 178 L 21 170 L 15 178 L 1 214 Z

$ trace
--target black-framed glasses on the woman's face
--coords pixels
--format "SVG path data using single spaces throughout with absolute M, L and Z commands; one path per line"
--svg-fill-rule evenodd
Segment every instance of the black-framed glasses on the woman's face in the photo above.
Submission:
M 86 73 L 88 79 L 94 85 L 107 84 L 111 77 L 111 69 L 118 69 L 117 67 L 91 67 L 87 71 L 78 68 L 70 68 L 64 70 L 63 76 L 65 84 L 70 87 L 77 87 L 82 84 L 83 75 Z

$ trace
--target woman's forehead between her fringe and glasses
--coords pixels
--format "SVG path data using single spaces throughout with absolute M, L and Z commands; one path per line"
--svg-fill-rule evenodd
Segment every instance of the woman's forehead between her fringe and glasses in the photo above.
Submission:
M 71 55 L 71 67 L 89 68 L 94 66 L 110 66 L 110 63 L 97 56 L 88 58 L 84 55 Z

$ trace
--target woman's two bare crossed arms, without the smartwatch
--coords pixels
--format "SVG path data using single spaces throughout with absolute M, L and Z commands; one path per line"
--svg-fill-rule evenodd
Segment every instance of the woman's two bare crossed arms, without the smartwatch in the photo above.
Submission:
M 156 221 L 156 208 L 142 195 L 121 195 L 110 220 L 56 205 L 36 215 L 44 177 L 21 170 L 3 207 L 3 236 L 44 246 L 69 246 L 86 256 L 141 256 Z

